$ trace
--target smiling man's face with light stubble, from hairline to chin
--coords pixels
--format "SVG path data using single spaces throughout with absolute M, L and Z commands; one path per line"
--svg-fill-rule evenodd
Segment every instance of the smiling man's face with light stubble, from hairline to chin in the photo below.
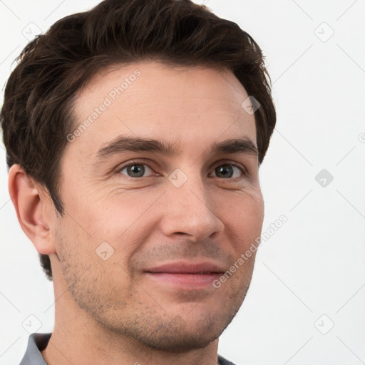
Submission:
M 110 68 L 78 95 L 76 128 L 93 121 L 62 157 L 66 214 L 53 232 L 61 264 L 52 264 L 63 273 L 55 284 L 70 286 L 64 295 L 91 322 L 175 350 L 207 346 L 231 322 L 255 254 L 219 288 L 213 280 L 259 237 L 264 204 L 257 155 L 212 145 L 256 145 L 246 98 L 228 71 L 155 62 Z M 175 153 L 133 141 L 135 150 L 106 148 L 117 138 L 158 140 Z

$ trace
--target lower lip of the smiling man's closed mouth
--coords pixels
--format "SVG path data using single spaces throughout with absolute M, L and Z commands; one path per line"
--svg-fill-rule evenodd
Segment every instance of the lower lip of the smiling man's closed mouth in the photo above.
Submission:
M 149 277 L 164 283 L 175 284 L 180 287 L 204 288 L 212 286 L 212 283 L 219 279 L 222 274 L 182 274 L 171 272 L 148 272 Z

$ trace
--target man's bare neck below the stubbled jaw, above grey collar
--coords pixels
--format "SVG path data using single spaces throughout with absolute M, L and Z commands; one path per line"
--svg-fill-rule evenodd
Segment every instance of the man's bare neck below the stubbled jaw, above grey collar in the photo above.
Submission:
M 48 365 L 216 365 L 218 339 L 204 349 L 185 352 L 150 349 L 143 344 L 118 334 L 107 335 L 103 329 L 96 332 L 74 331 L 56 326 L 46 349 L 41 351 Z

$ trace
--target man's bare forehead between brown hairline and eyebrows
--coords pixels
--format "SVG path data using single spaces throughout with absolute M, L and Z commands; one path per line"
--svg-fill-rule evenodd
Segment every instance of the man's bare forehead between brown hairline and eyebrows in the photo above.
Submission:
M 195 146 L 249 136 L 256 144 L 255 117 L 241 106 L 247 97 L 227 70 L 153 61 L 109 67 L 76 97 L 71 144 L 86 147 L 90 158 L 117 135 Z

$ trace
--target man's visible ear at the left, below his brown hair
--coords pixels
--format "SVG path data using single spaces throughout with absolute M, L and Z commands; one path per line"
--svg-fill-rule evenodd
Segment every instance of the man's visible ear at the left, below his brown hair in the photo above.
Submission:
M 26 175 L 20 165 L 9 170 L 9 194 L 21 229 L 44 255 L 56 253 L 50 225 L 53 222 L 51 199 L 36 181 Z

